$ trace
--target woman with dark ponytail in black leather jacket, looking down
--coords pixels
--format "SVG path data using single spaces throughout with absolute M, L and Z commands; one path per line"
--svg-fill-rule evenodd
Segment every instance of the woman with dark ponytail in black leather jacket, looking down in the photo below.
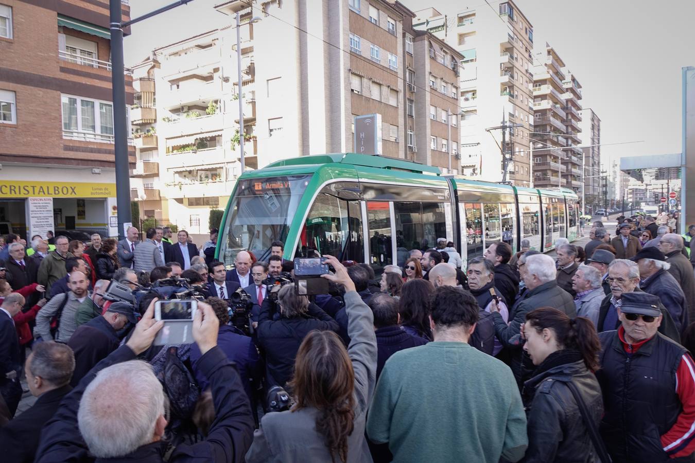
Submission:
M 523 348 L 536 365 L 522 391 L 528 419 L 528 449 L 522 461 L 597 461 L 589 428 L 568 386 L 575 385 L 598 429 L 603 398 L 594 376 L 600 352 L 594 323 L 544 307 L 526 314 L 522 333 Z

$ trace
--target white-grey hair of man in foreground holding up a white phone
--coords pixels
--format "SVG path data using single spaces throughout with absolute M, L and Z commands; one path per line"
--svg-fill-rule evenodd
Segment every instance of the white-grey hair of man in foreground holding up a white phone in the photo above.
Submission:
M 113 392 L 121 398 L 114 403 Z M 152 442 L 157 419 L 164 415 L 164 390 L 142 360 L 122 362 L 97 373 L 80 401 L 77 422 L 97 458 L 128 455 Z

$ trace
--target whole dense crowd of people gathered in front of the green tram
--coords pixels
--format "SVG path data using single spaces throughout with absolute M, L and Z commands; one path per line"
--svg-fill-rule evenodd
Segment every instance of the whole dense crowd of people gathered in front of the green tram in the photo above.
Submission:
M 31 255 L 8 235 L 3 461 L 692 461 L 695 226 L 672 231 L 595 222 L 555 258 L 500 240 L 464 261 L 445 238 L 403 267 L 326 255 L 313 296 L 283 242 L 228 269 L 217 230 Z M 199 298 L 195 343 L 154 346 L 172 277 Z M 140 296 L 109 300 L 112 280 Z

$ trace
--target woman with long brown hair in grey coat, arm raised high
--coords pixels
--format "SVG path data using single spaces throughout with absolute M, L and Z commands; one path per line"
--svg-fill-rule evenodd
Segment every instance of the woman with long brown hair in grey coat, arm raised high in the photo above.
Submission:
M 335 274 L 323 278 L 345 286 L 350 346 L 346 351 L 331 331 L 314 330 L 304 337 L 289 383 L 295 405 L 263 416 L 247 463 L 372 461 L 364 428 L 377 369 L 374 317 L 345 267 L 325 257 Z

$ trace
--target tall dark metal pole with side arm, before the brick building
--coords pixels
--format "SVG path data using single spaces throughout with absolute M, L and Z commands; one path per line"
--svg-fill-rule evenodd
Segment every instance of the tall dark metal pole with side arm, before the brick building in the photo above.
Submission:
M 161 12 L 185 5 L 193 0 L 179 0 L 158 10 L 123 22 L 121 0 L 109 0 L 109 29 L 111 31 L 111 91 L 113 101 L 113 148 L 115 153 L 116 205 L 118 208 L 118 238 L 124 239 L 124 224 L 131 224 L 130 169 L 128 163 L 128 133 L 126 114 L 126 81 L 123 64 L 123 28 L 153 17 Z

